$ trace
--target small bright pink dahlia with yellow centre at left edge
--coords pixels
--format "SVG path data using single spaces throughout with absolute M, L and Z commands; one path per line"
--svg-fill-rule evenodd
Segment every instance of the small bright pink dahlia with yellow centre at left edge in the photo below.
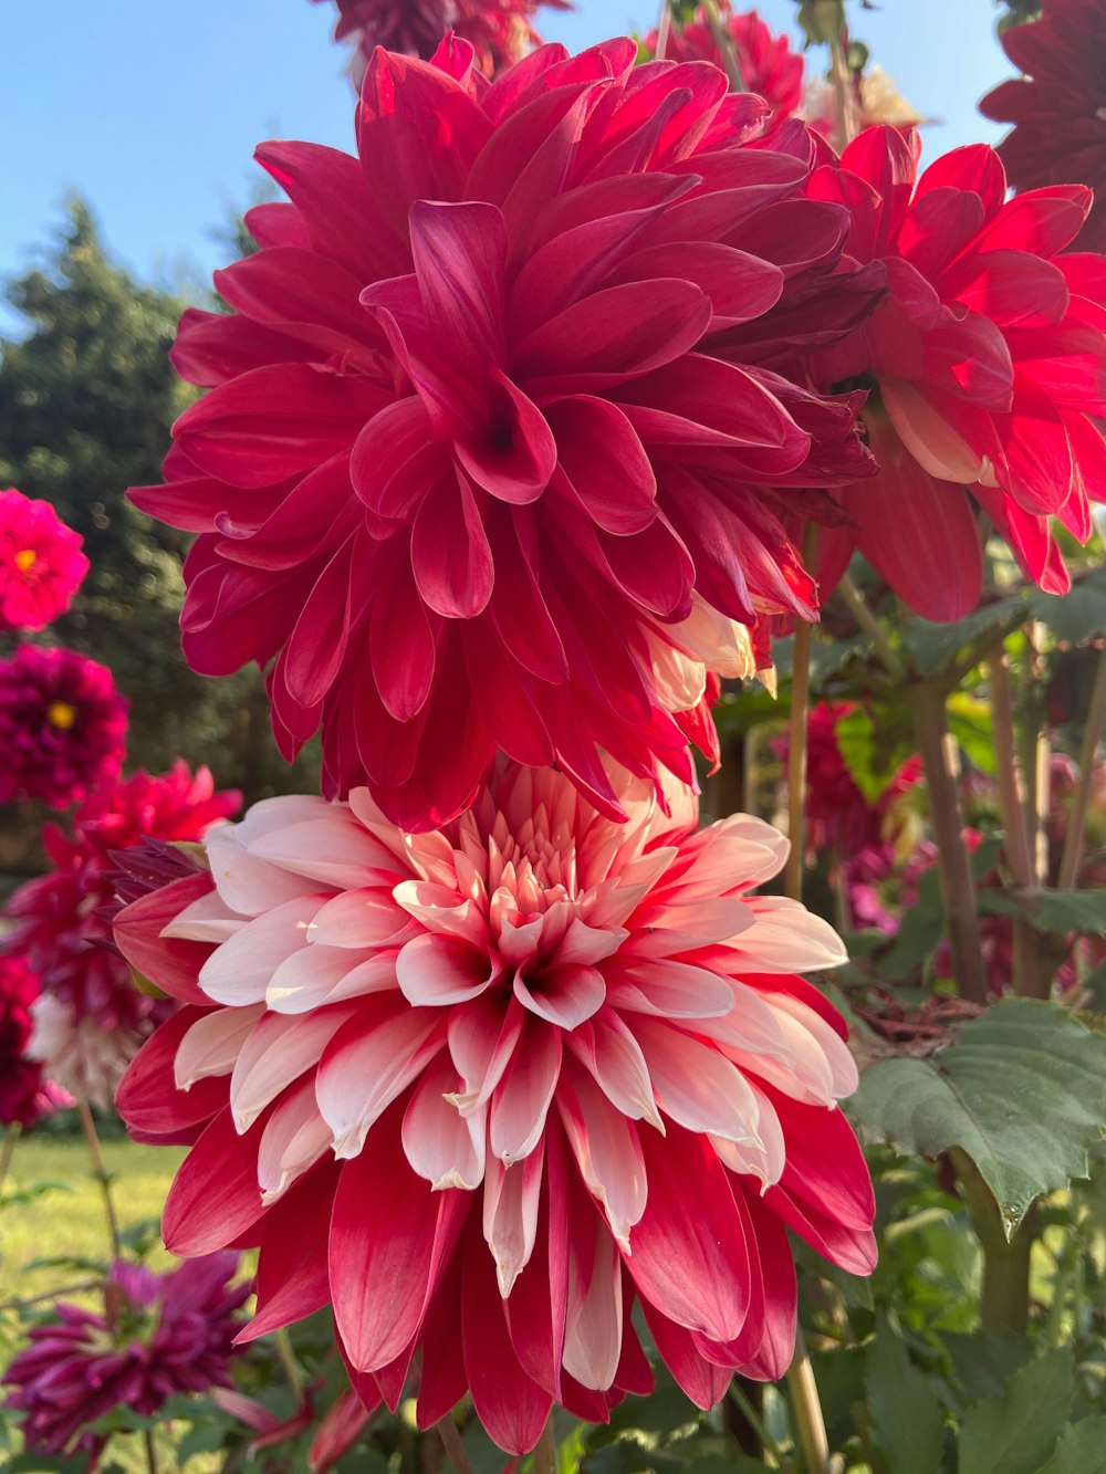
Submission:
M 0 491 L 0 634 L 41 629 L 72 603 L 88 559 L 49 501 Z

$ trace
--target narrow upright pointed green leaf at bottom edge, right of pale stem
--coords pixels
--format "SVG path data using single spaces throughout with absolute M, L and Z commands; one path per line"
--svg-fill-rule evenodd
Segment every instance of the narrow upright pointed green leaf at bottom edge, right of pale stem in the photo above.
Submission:
M 941 1468 L 945 1419 L 933 1384 L 914 1366 L 905 1343 L 880 1321 L 864 1375 L 876 1443 L 894 1474 Z

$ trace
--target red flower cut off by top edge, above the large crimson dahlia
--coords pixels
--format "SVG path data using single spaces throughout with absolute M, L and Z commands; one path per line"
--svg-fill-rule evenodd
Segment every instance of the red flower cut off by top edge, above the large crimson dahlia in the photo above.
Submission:
M 319 3 L 319 0 L 316 0 Z M 568 10 L 566 0 L 335 0 L 336 41 L 351 41 L 355 59 L 349 72 L 361 85 L 378 46 L 403 56 L 429 60 L 447 31 L 466 40 L 485 77 L 518 62 L 541 43 L 532 27 L 540 4 Z

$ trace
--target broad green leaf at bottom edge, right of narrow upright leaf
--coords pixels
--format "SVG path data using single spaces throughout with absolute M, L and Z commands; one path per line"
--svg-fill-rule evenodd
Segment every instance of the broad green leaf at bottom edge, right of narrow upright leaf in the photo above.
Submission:
M 1023 1366 L 997 1397 L 969 1408 L 960 1474 L 1041 1474 L 1068 1419 L 1074 1377 L 1075 1358 L 1065 1346 Z

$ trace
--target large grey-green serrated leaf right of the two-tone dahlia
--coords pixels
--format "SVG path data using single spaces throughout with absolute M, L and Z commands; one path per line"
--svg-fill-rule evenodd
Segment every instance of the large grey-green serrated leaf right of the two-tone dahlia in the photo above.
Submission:
M 1087 1176 L 1106 1119 L 1106 1039 L 1051 1004 L 1012 998 L 928 1060 L 880 1060 L 846 1110 L 866 1141 L 936 1157 L 961 1147 L 1007 1238 L 1041 1192 Z

